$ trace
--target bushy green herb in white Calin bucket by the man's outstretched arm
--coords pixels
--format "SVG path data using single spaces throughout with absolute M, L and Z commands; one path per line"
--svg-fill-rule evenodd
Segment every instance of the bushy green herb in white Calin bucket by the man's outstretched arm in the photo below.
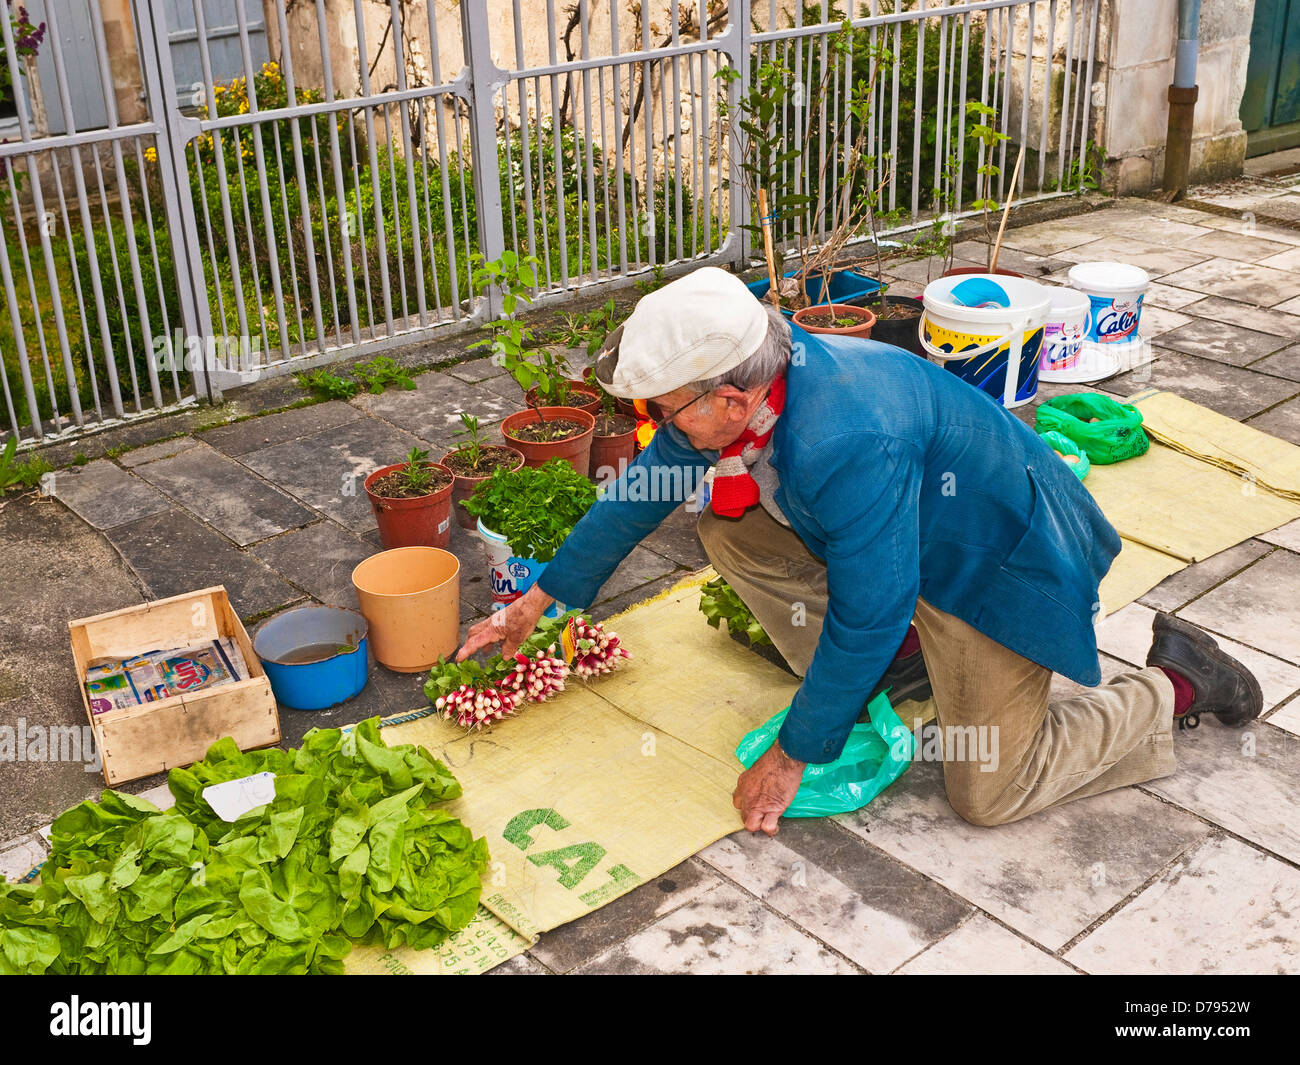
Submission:
M 498 469 L 463 506 L 488 547 L 493 610 L 523 596 L 595 502 L 595 485 L 568 463 Z M 563 603 L 547 610 L 556 616 Z

